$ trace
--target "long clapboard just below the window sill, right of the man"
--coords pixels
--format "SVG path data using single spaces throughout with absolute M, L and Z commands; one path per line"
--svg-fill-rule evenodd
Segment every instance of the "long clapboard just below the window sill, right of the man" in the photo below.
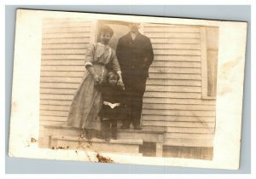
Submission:
M 215 111 L 215 106 L 212 105 L 178 105 L 178 104 L 154 104 L 143 103 L 144 109 L 175 109 L 175 110 L 201 110 L 201 111 Z

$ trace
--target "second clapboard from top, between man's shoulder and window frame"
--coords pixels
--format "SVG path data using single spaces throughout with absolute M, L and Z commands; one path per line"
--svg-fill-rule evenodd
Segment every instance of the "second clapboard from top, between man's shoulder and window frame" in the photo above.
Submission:
M 164 33 L 145 33 L 148 38 L 200 38 L 200 33 L 175 33 L 175 32 L 164 32 Z

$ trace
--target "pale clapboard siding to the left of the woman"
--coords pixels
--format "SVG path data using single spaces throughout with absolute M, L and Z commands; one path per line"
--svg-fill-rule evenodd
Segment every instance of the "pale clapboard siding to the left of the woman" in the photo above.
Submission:
M 84 75 L 84 57 L 91 38 L 94 38 L 93 28 L 91 21 L 79 18 L 43 20 L 41 125 L 67 123 L 73 95 Z

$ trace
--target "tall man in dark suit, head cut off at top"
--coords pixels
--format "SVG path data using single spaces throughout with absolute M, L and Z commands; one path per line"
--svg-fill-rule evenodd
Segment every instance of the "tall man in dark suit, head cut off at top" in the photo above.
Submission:
M 119 38 L 116 55 L 125 84 L 125 105 L 128 115 L 121 129 L 141 130 L 140 120 L 143 108 L 143 95 L 146 89 L 148 68 L 154 59 L 150 39 L 138 32 L 139 24 L 131 23 L 130 32 Z

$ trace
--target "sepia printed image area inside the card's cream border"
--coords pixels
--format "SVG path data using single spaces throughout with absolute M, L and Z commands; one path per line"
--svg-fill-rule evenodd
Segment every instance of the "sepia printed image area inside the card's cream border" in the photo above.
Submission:
M 218 26 L 44 19 L 40 147 L 211 160 L 217 64 Z

